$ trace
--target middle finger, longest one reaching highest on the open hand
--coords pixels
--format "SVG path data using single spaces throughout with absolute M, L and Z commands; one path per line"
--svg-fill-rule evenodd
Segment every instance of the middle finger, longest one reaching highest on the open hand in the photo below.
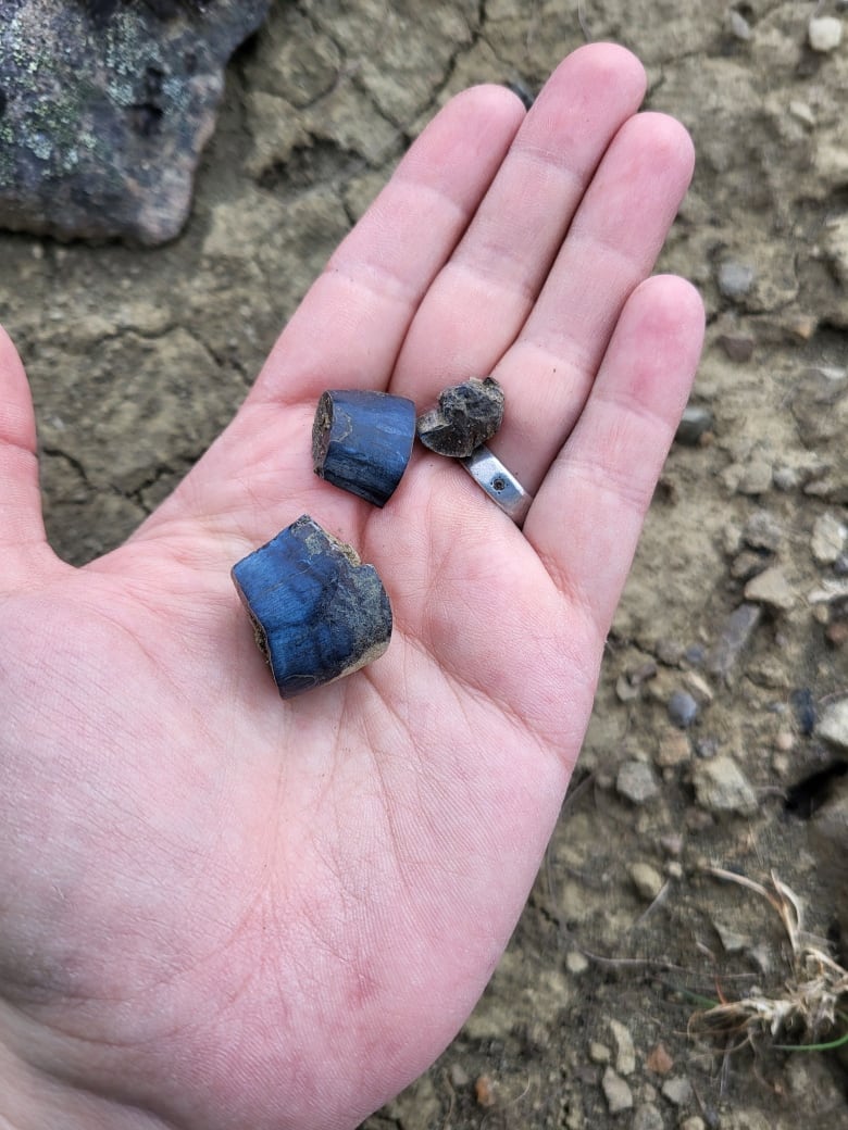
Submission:
M 392 391 L 426 401 L 494 368 L 560 251 L 611 140 L 639 108 L 644 70 L 592 44 L 545 84 L 468 231 L 431 286 L 398 358 Z

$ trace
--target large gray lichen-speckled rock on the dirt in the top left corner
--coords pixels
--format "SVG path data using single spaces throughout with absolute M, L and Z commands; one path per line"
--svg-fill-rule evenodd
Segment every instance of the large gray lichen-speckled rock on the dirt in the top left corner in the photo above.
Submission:
M 270 0 L 0 0 L 0 226 L 173 238 Z

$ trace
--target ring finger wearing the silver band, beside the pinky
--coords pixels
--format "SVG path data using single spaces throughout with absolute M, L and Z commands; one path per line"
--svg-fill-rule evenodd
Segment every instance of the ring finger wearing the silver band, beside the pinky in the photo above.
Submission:
M 629 295 L 651 271 L 692 175 L 664 114 L 618 131 L 514 345 L 494 375 L 508 415 L 493 450 L 535 494 L 578 419 Z

